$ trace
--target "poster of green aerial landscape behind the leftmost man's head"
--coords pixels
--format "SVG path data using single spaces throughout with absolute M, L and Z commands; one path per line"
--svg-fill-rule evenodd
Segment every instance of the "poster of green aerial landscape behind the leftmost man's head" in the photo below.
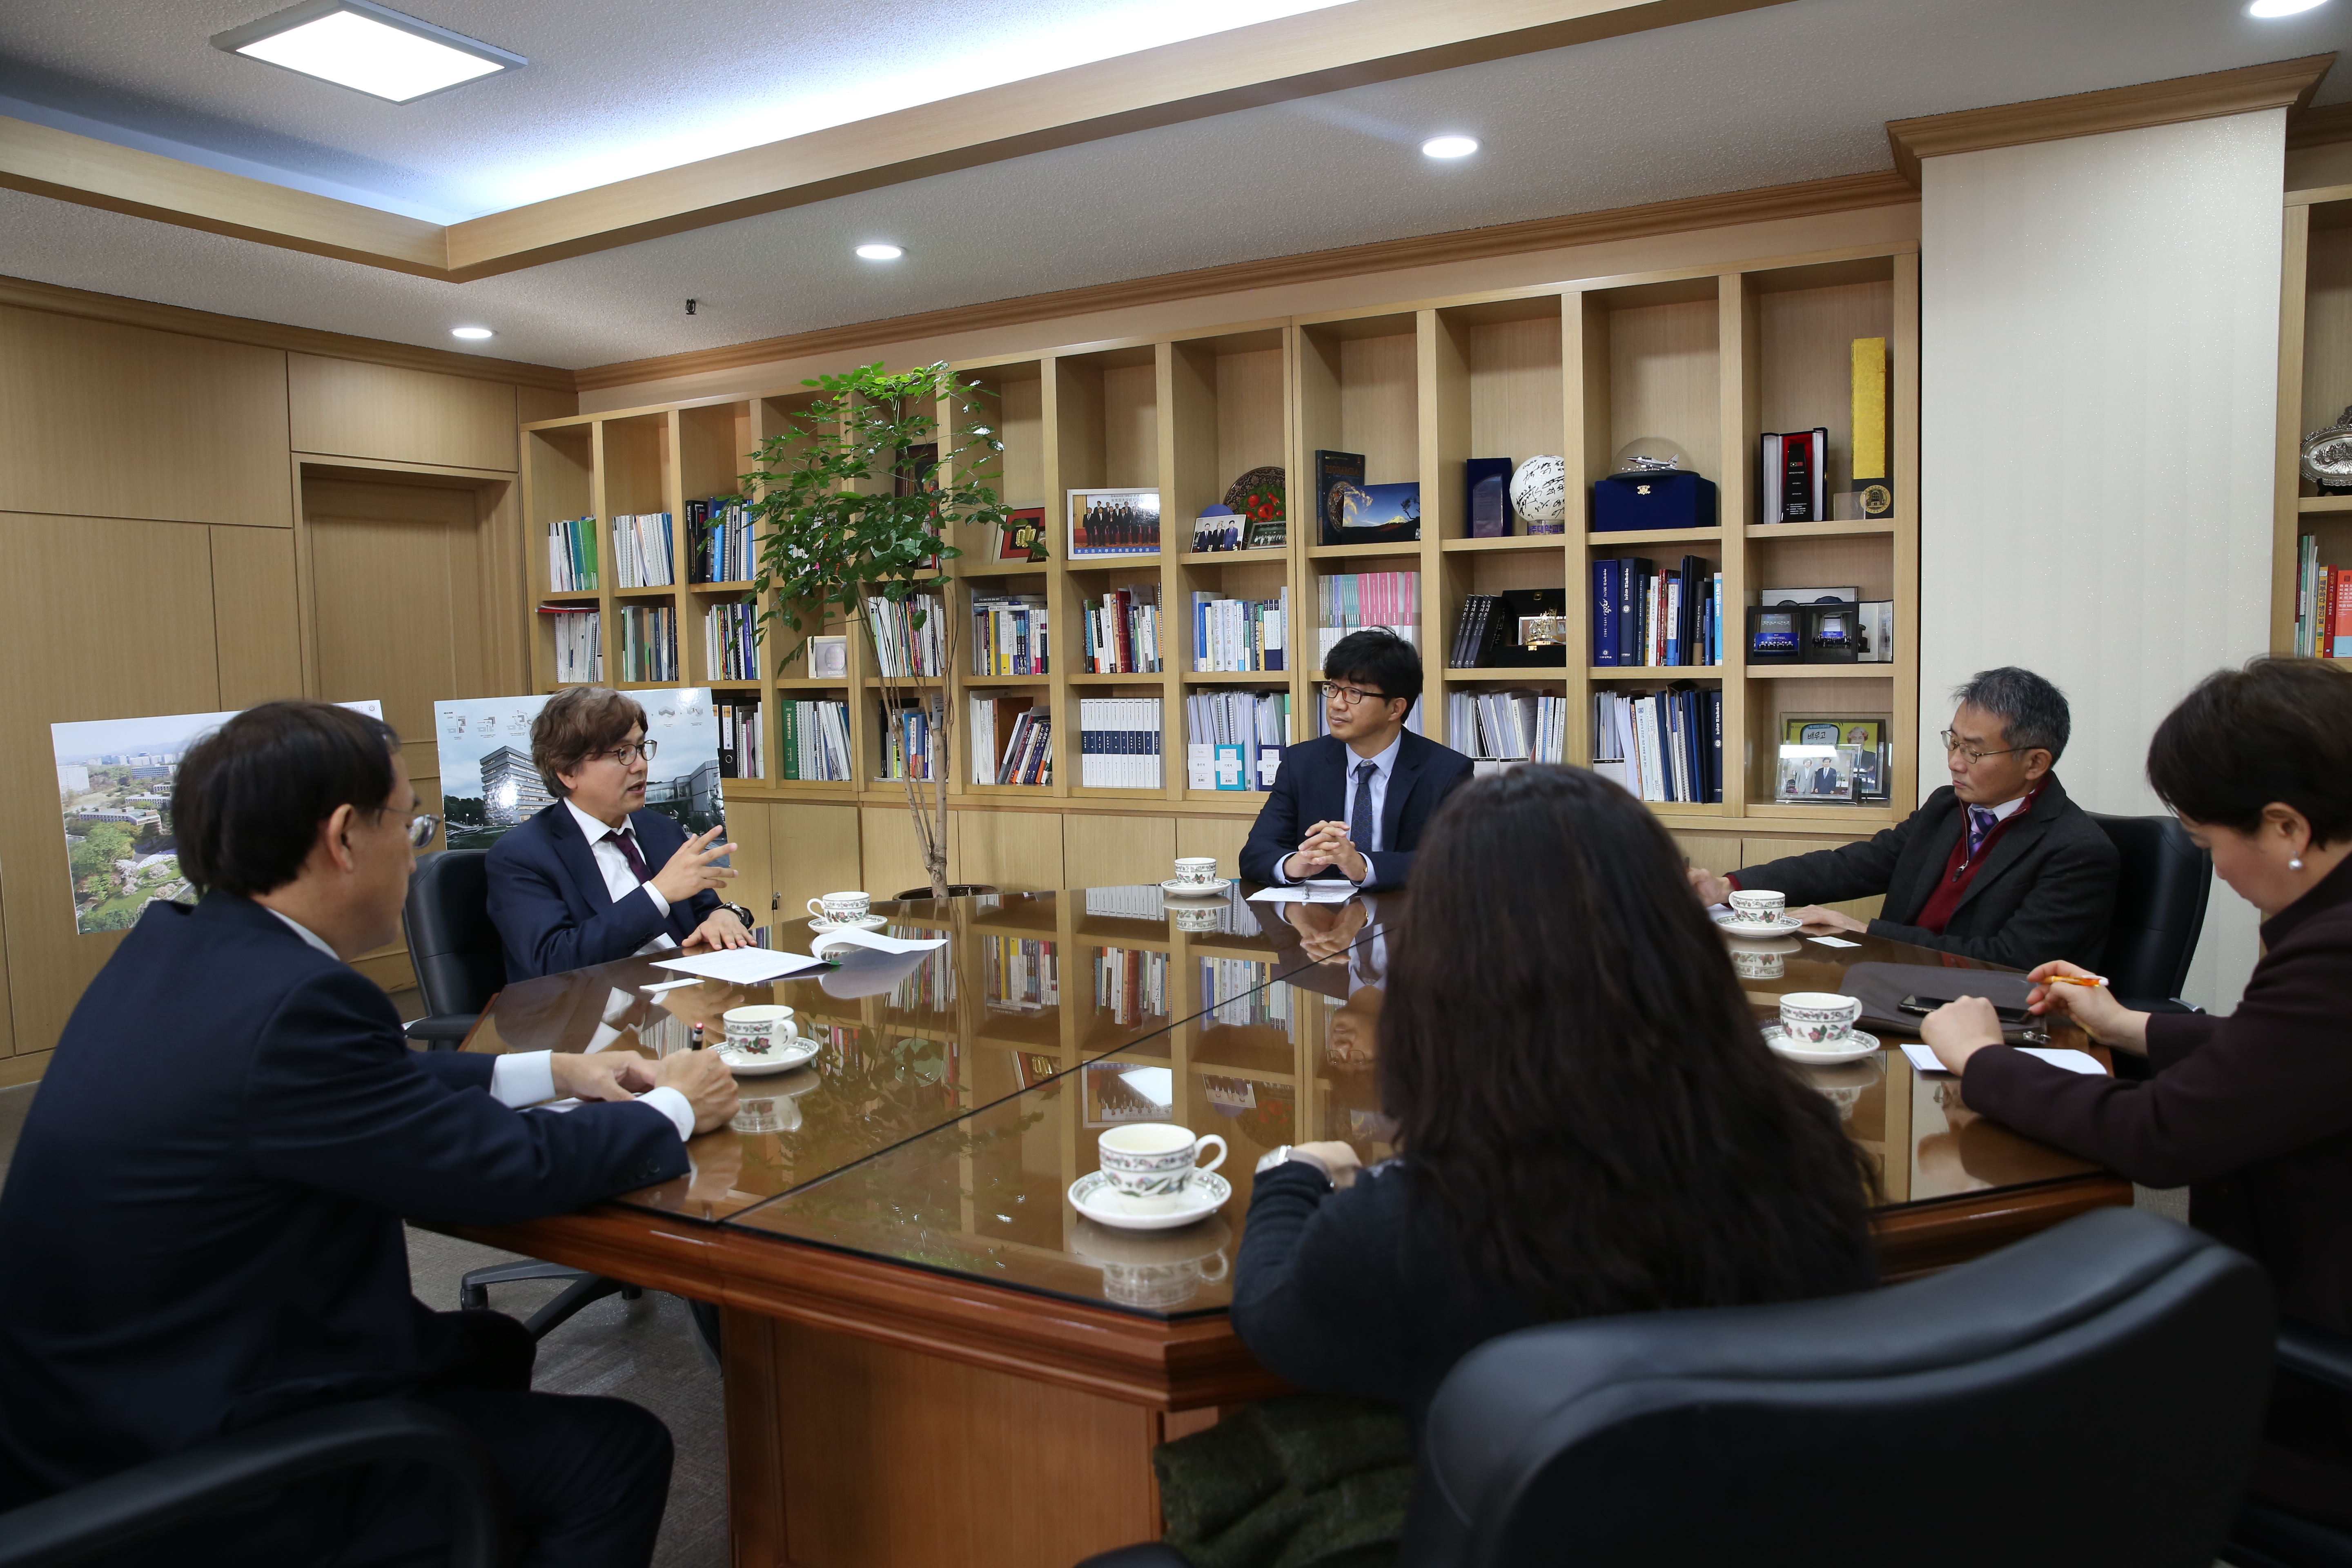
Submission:
M 383 717 L 379 701 L 343 708 Z M 49 726 L 75 931 L 129 931 L 158 898 L 193 903 L 172 837 L 172 780 L 188 748 L 233 717 L 169 712 Z

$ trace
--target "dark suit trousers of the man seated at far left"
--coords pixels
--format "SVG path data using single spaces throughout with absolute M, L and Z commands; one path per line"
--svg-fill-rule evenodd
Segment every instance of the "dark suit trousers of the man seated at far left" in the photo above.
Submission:
M 532 1394 L 536 1347 L 522 1324 L 501 1312 L 447 1316 L 466 1326 L 473 1354 L 412 1396 L 461 1420 L 492 1453 L 517 1568 L 644 1568 L 670 1500 L 670 1429 L 626 1399 Z M 379 1467 L 108 1561 L 437 1566 L 447 1563 L 447 1486 L 426 1467 Z

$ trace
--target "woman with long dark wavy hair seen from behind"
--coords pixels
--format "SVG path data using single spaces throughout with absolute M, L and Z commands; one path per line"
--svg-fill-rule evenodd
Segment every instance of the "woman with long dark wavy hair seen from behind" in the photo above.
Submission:
M 1665 827 L 1522 766 L 1454 792 L 1381 1011 L 1395 1161 L 1261 1166 L 1232 1321 L 1308 1389 L 1402 1406 L 1524 1324 L 1875 1284 L 1867 1166 L 1766 1051 Z

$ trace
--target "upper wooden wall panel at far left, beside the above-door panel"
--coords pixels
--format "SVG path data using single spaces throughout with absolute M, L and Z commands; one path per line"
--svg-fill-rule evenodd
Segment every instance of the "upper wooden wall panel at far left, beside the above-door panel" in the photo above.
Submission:
M 0 308 L 0 512 L 292 527 L 285 360 Z

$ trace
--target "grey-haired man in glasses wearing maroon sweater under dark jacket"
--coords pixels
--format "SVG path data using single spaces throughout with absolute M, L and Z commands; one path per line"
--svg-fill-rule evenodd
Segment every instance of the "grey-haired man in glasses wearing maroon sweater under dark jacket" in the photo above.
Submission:
M 1943 736 L 1952 783 L 1910 818 L 1858 844 L 1729 877 L 1693 867 L 1698 896 L 1722 903 L 1733 889 L 1780 891 L 1809 926 L 2011 969 L 2053 957 L 2098 964 L 2119 858 L 2051 771 L 2072 729 L 2065 693 L 2032 670 L 2002 668 L 1952 696 L 1959 710 Z M 1886 896 L 1872 922 L 1820 907 L 1872 893 Z

